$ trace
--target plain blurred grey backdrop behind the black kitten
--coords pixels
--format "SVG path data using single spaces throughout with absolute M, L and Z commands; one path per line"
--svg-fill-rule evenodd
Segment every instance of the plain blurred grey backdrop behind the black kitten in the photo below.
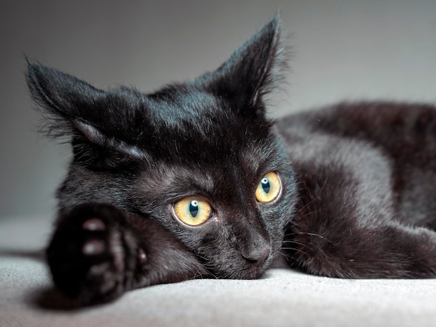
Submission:
M 105 88 L 212 70 L 277 10 L 292 32 L 279 116 L 341 99 L 436 99 L 436 1 L 1 1 L 0 219 L 50 215 L 68 147 L 41 140 L 24 54 Z

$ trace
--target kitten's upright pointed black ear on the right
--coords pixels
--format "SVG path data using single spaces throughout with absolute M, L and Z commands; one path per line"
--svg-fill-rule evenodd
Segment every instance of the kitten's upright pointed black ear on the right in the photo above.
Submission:
M 279 16 L 266 24 L 235 51 L 215 72 L 201 79 L 220 98 L 242 113 L 265 111 L 263 96 L 283 79 L 288 51 L 282 44 Z

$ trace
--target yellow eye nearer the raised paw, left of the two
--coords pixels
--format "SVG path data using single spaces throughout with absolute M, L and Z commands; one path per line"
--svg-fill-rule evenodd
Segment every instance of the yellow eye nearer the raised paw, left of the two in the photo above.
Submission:
M 183 223 L 198 226 L 210 218 L 212 208 L 205 199 L 198 196 L 188 196 L 176 202 L 174 213 Z

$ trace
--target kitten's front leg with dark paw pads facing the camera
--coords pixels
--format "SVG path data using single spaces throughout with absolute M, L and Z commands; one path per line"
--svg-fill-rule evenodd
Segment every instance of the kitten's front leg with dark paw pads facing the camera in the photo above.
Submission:
M 79 305 L 203 273 L 196 258 L 159 223 L 96 203 L 59 217 L 47 260 L 56 287 Z

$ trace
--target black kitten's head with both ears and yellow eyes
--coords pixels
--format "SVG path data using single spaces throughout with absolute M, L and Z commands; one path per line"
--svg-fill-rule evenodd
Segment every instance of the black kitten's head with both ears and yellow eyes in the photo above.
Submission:
M 98 90 L 29 61 L 49 136 L 72 144 L 61 212 L 109 202 L 157 219 L 218 277 L 255 278 L 281 246 L 293 171 L 265 95 L 284 52 L 276 18 L 213 72 L 145 95 Z

